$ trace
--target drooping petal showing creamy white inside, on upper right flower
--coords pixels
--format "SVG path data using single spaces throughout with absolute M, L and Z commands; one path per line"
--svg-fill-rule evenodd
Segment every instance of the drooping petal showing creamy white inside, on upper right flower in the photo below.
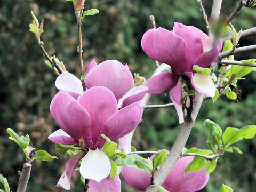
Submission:
M 214 97 L 216 89 L 215 85 L 210 77 L 207 77 L 198 73 L 185 73 L 190 79 L 191 84 L 194 89 L 207 97 Z

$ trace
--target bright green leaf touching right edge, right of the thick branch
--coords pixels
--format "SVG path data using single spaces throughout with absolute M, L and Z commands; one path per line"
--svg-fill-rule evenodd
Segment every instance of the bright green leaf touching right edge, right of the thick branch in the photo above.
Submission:
M 256 134 L 256 126 L 244 126 L 241 129 L 227 127 L 223 133 L 222 139 L 224 145 L 227 147 L 242 139 L 252 139 Z

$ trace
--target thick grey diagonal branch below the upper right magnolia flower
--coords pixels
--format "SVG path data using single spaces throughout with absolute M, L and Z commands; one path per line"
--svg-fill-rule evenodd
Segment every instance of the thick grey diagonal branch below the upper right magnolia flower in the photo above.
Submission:
M 196 103 L 191 111 L 191 115 L 187 115 L 185 118 L 185 122 L 182 124 L 180 132 L 172 146 L 172 149 L 170 150 L 169 155 L 165 159 L 164 164 L 160 168 L 160 170 L 156 173 L 154 177 L 154 184 L 156 185 L 162 185 L 167 175 L 170 173 L 172 167 L 177 162 L 177 160 L 180 158 L 181 151 L 183 147 L 186 145 L 186 142 L 188 140 L 189 134 L 192 130 L 192 127 L 195 123 L 195 119 L 197 117 L 198 111 L 201 108 L 203 102 L 203 95 L 197 94 L 196 95 Z M 147 192 L 155 192 L 157 191 L 156 187 L 148 187 Z

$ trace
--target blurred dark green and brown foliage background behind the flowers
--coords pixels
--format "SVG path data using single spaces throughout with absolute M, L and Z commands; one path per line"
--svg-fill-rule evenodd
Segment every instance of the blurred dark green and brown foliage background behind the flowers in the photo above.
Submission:
M 226 18 L 235 9 L 238 0 L 222 3 L 221 17 Z M 203 1 L 210 14 L 212 1 Z M 149 15 L 156 18 L 156 25 L 172 29 L 173 22 L 193 25 L 205 31 L 205 22 L 196 0 L 86 0 L 85 9 L 97 8 L 100 14 L 86 17 L 83 25 L 83 57 L 87 64 L 97 58 L 98 63 L 116 59 L 128 63 L 135 73 L 149 78 L 155 70 L 154 61 L 146 57 L 140 47 L 140 39 L 151 27 Z M 28 31 L 31 23 L 30 10 L 40 20 L 44 19 L 41 36 L 45 49 L 56 55 L 67 69 L 79 76 L 77 65 L 77 25 L 74 8 L 65 0 L 0 1 L 0 173 L 7 177 L 11 189 L 18 183 L 18 170 L 24 162 L 18 145 L 8 139 L 7 127 L 19 134 L 30 135 L 31 145 L 37 149 L 57 155 L 53 162 L 33 162 L 27 191 L 63 191 L 55 187 L 68 158 L 59 156 L 47 136 L 58 129 L 50 114 L 50 101 L 57 89 L 57 75 L 44 64 L 44 57 L 37 46 L 33 33 Z M 248 29 L 256 25 L 256 9 L 243 7 L 233 22 L 236 29 Z M 242 39 L 241 46 L 255 44 L 255 36 Z M 235 58 L 255 58 L 255 52 L 237 55 Z M 209 130 L 203 127 L 206 118 L 212 119 L 222 128 L 242 127 L 256 124 L 255 109 L 256 74 L 252 73 L 239 83 L 241 95 L 234 103 L 226 98 L 204 101 L 187 148 L 206 148 Z M 150 103 L 169 103 L 168 95 L 154 95 Z M 132 144 L 137 150 L 170 149 L 180 125 L 174 108 L 148 109 L 134 134 Z M 218 191 L 222 183 L 235 192 L 256 191 L 256 140 L 245 140 L 237 144 L 244 152 L 221 157 L 217 170 L 210 176 L 208 185 L 202 190 Z M 122 191 L 135 191 L 123 182 Z M 71 191 L 82 191 L 79 175 L 73 175 Z

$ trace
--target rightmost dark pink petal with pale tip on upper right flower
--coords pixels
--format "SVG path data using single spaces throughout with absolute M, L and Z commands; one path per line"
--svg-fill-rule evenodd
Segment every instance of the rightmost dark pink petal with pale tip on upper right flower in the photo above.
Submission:
M 198 65 L 203 68 L 209 67 L 211 63 L 217 59 L 222 49 L 222 44 L 223 44 L 222 41 L 219 40 L 217 44 L 213 46 L 210 51 L 204 52 L 197 58 L 195 65 Z

